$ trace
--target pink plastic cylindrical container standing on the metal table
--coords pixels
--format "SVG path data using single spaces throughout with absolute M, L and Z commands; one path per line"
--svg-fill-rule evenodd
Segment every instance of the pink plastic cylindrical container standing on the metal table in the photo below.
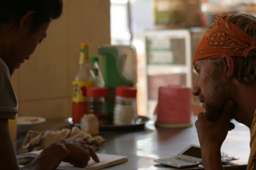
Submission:
M 191 88 L 179 85 L 160 87 L 156 125 L 159 127 L 191 126 Z

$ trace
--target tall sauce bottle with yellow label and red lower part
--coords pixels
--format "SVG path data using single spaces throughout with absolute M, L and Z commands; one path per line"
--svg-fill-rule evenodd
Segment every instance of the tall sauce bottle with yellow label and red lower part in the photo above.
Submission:
M 79 68 L 72 81 L 72 118 L 73 123 L 80 123 L 87 112 L 86 88 L 94 87 L 94 79 L 90 72 L 89 45 L 81 43 Z

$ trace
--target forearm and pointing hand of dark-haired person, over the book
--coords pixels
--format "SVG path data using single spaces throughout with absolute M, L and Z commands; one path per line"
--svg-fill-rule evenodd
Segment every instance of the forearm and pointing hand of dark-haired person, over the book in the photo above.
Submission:
M 50 144 L 30 164 L 22 170 L 56 170 L 61 161 L 70 162 L 76 167 L 84 168 L 90 157 L 100 162 L 96 153 L 81 138 L 68 138 Z M 49 163 L 50 162 L 50 163 Z

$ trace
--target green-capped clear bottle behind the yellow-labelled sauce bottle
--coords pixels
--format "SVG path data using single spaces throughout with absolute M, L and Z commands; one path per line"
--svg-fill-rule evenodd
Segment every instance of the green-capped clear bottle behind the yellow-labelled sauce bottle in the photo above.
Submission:
M 100 67 L 99 67 L 99 57 L 98 57 L 98 55 L 92 55 L 90 57 L 90 59 L 91 59 L 91 64 L 92 64 L 91 70 L 95 76 L 94 77 L 95 86 L 96 87 L 104 87 L 105 82 L 104 82 L 104 79 L 103 79 L 103 76 L 101 74 Z

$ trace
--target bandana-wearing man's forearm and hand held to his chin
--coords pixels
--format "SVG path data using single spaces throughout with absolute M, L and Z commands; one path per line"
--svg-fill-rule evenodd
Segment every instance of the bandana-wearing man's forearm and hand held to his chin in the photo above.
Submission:
M 202 163 L 206 170 L 223 169 L 220 147 L 228 134 L 228 130 L 234 128 L 234 124 L 230 122 L 234 107 L 234 101 L 227 101 L 220 118 L 216 121 L 208 121 L 205 113 L 198 115 L 195 125 L 202 150 Z

